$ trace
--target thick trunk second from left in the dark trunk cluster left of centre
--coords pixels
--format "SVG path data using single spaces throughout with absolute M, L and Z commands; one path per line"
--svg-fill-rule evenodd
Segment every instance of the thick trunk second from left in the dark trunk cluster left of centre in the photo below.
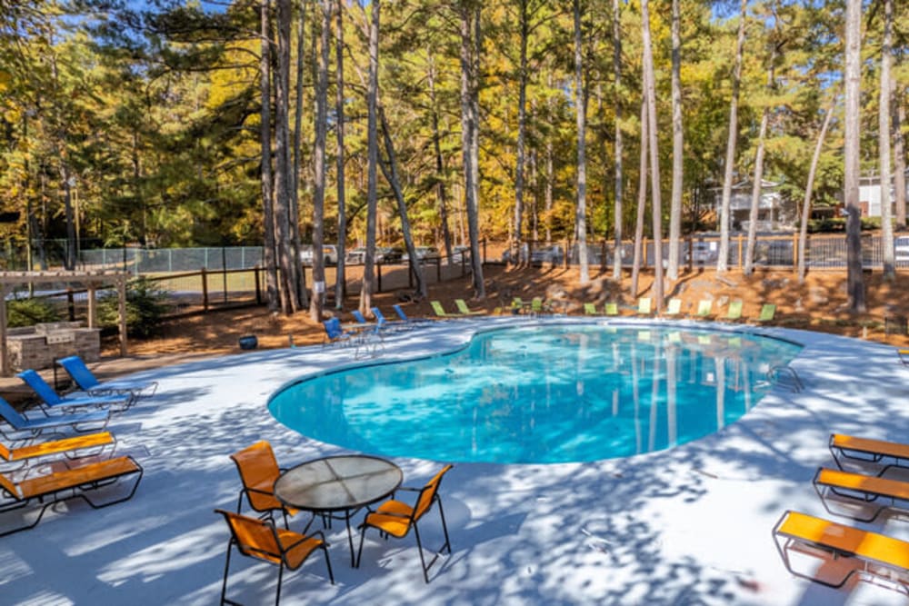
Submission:
M 290 233 L 290 0 L 277 0 L 277 60 L 275 74 L 275 249 L 280 267 L 278 293 L 284 313 L 299 308 L 295 265 L 299 259 L 291 256 Z

